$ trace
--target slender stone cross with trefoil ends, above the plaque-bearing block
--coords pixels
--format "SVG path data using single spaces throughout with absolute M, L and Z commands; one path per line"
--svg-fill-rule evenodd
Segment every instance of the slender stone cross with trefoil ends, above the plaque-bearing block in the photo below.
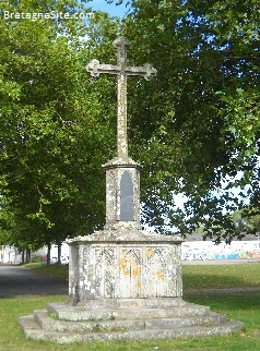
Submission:
M 146 81 L 152 80 L 156 70 L 149 63 L 142 66 L 127 65 L 127 47 L 129 41 L 123 36 L 119 36 L 113 43 L 117 49 L 117 65 L 101 64 L 98 60 L 92 60 L 86 65 L 86 71 L 92 76 L 98 76 L 101 73 L 117 74 L 117 156 L 128 157 L 128 138 L 127 138 L 127 76 L 141 75 Z

